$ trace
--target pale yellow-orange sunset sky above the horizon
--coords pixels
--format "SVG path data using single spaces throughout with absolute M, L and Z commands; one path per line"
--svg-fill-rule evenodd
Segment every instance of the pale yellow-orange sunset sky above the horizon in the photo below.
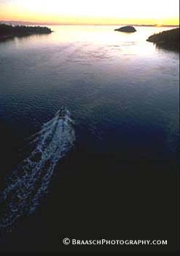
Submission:
M 179 0 L 0 0 L 0 20 L 178 25 Z

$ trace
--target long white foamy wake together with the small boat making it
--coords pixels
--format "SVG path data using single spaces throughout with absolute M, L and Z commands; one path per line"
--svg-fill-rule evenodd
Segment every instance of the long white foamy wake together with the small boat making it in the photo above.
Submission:
M 35 149 L 13 170 L 0 194 L 1 229 L 8 229 L 18 218 L 34 213 L 47 193 L 55 166 L 74 140 L 73 121 L 66 108 L 61 108 L 31 137 Z

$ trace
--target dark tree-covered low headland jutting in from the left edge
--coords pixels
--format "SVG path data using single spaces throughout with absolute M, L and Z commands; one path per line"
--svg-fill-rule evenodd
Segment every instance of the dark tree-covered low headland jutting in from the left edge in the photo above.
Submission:
M 24 37 L 31 34 L 50 34 L 51 29 L 46 26 L 12 26 L 0 23 L 0 40 L 13 37 Z

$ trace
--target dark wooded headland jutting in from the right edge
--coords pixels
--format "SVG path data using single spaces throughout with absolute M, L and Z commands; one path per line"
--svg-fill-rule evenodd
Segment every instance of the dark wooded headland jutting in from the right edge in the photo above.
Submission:
M 154 42 L 160 48 L 179 51 L 179 28 L 153 34 L 147 41 Z

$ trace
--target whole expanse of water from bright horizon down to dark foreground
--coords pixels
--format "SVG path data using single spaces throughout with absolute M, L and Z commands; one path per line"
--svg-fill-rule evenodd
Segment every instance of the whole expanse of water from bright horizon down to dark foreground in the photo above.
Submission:
M 179 54 L 146 42 L 169 28 L 116 28 L 0 42 L 0 234 L 17 227 L 2 251 L 59 252 L 61 238 L 102 234 L 175 243 Z

